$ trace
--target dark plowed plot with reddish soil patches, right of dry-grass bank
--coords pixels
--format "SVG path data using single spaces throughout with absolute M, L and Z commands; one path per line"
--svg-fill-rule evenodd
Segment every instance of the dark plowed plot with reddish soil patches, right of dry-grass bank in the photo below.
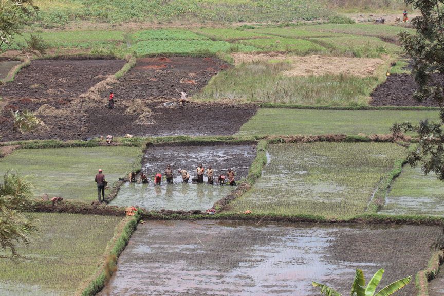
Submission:
M 115 100 L 160 96 L 180 98 L 178 91 L 185 91 L 190 96 L 204 87 L 218 71 L 227 68 L 227 63 L 215 58 L 139 59 L 136 66 L 114 85 Z

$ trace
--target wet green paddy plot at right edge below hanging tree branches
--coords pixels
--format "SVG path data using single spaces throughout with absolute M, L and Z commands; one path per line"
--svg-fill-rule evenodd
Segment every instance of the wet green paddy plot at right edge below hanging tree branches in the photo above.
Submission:
M 385 197 L 381 214 L 444 216 L 444 188 L 432 172 L 424 175 L 420 167 L 404 165 Z

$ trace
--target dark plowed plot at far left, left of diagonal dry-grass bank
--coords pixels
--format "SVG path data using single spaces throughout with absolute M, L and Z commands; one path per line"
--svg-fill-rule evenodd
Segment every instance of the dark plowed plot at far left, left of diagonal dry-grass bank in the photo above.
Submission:
M 72 100 L 119 71 L 123 60 L 34 60 L 0 88 L 8 100 Z M 55 103 L 57 104 L 57 103 Z

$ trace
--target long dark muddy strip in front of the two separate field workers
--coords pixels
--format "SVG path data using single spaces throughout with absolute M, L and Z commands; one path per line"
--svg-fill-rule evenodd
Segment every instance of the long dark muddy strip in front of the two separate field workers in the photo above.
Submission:
M 32 133 L 11 132 L 12 122 L 8 121 L 9 110 L 17 106 L 7 106 L 3 111 L 3 124 L 0 134 L 4 141 L 29 139 L 84 139 L 106 136 L 167 136 L 167 135 L 233 135 L 252 117 L 257 110 L 255 105 L 222 105 L 218 103 L 188 102 L 186 107 L 167 107 L 168 100 L 145 102 L 153 110 L 146 120 L 151 124 L 137 123 L 139 115 L 126 115 L 126 107 L 108 109 L 102 104 L 85 104 L 60 109 L 52 116 L 40 116 L 46 127 Z M 42 104 L 44 101 L 42 101 Z M 23 104 L 19 105 L 23 107 Z M 39 104 L 28 104 L 35 110 Z M 8 108 L 9 107 L 9 108 Z M 60 114 L 59 114 L 60 113 Z M 196 119 L 198 123 L 196 123 Z

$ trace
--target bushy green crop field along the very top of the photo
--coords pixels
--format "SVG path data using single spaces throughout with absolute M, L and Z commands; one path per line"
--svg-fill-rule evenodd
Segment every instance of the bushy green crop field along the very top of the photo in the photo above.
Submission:
M 36 0 L 40 24 L 62 26 L 72 20 L 97 22 L 290 22 L 327 17 L 323 3 L 307 0 Z

